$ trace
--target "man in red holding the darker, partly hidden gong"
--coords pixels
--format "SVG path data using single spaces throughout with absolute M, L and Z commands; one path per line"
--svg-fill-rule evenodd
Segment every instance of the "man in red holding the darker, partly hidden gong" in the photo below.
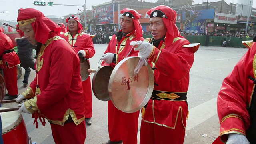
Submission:
M 133 9 L 121 10 L 121 30 L 112 36 L 101 60 L 102 65 L 115 66 L 126 56 L 138 56 L 130 42 L 144 40 L 139 19 L 140 14 Z M 106 144 L 137 144 L 139 111 L 124 113 L 118 110 L 111 100 L 108 101 L 108 134 L 110 140 Z

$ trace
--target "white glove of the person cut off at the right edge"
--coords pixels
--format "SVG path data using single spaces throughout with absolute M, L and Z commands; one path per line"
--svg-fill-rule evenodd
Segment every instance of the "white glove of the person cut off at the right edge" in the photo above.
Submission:
M 250 144 L 246 136 L 241 134 L 229 134 L 226 144 Z

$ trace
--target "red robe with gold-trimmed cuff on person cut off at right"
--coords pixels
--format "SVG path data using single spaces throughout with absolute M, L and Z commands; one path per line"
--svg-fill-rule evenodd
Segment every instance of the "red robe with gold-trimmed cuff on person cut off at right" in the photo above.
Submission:
M 255 84 L 248 76 L 256 78 L 255 54 L 254 42 L 234 70 L 223 80 L 217 98 L 222 142 L 227 141 L 230 133 L 246 135 L 246 130 L 250 127 L 250 116 L 246 107 L 251 104 Z

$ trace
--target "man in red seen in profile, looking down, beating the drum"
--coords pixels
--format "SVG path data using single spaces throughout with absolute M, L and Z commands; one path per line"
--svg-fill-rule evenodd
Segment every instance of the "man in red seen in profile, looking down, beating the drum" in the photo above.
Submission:
M 80 62 L 74 48 L 60 38 L 60 26 L 36 9 L 27 8 L 18 15 L 18 25 L 36 47 L 36 78 L 17 102 L 19 112 L 46 118 L 56 144 L 84 144 L 84 97 Z M 45 122 L 40 121 L 44 125 Z

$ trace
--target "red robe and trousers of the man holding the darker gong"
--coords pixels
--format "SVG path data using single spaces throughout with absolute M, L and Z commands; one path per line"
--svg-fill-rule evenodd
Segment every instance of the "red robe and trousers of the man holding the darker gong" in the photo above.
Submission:
M 126 58 L 127 54 L 132 49 L 130 42 L 143 41 L 143 37 L 136 37 L 135 30 L 122 37 L 120 42 L 117 41 L 116 35 L 112 36 L 108 47 L 104 53 L 110 52 L 116 54 L 116 63 L 102 65 L 115 66 L 122 59 Z M 120 46 L 123 45 L 123 46 Z M 129 56 L 138 56 L 138 51 L 131 50 Z M 118 110 L 111 100 L 108 101 L 108 134 L 113 142 L 123 141 L 123 144 L 137 144 L 138 133 L 138 117 L 140 111 L 134 113 L 124 113 Z

